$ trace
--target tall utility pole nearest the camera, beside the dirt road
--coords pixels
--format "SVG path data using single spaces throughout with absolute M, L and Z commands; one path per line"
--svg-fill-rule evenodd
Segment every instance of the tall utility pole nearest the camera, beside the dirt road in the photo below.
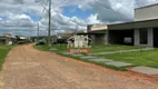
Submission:
M 51 0 L 49 0 L 48 47 L 51 46 Z

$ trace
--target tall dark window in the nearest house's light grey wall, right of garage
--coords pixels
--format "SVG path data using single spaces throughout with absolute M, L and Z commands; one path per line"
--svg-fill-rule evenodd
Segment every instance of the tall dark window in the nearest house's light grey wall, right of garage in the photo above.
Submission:
M 148 43 L 148 30 L 147 29 L 140 29 L 140 43 L 147 44 Z

